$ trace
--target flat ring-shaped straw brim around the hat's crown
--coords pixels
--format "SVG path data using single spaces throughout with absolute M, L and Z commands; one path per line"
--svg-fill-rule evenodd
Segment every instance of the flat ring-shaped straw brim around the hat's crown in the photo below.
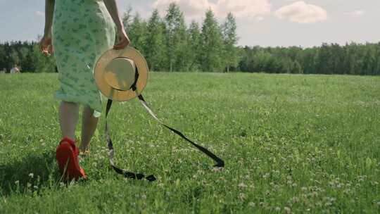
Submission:
M 129 58 L 134 62 L 137 67 L 137 71 L 139 73 L 139 79 L 136 84 L 136 92 L 132 89 L 128 91 L 119 91 L 110 87 L 110 85 L 104 79 L 104 73 L 106 72 L 106 66 L 110 61 L 114 58 L 124 57 Z M 103 53 L 103 55 L 96 62 L 94 69 L 94 78 L 96 85 L 98 86 L 99 91 L 104 96 L 108 97 L 108 99 L 112 99 L 114 101 L 129 101 L 134 99 L 137 95 L 141 94 L 148 82 L 148 64 L 144 56 L 141 55 L 139 51 L 132 47 L 127 47 L 121 50 L 110 49 Z

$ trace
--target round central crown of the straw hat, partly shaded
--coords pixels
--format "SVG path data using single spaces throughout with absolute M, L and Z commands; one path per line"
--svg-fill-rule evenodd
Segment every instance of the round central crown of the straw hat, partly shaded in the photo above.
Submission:
M 113 58 L 106 65 L 103 77 L 113 89 L 127 91 L 135 81 L 135 73 L 136 65 L 134 65 L 134 61 L 129 58 L 118 57 Z

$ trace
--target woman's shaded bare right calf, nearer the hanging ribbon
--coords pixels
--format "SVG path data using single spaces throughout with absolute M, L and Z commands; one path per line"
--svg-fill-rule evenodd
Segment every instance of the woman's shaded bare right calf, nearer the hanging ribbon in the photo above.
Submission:
M 87 150 L 91 138 L 94 135 L 96 126 L 98 125 L 99 118 L 94 117 L 94 110 L 88 106 L 84 106 L 82 114 L 82 143 L 80 144 L 80 151 Z

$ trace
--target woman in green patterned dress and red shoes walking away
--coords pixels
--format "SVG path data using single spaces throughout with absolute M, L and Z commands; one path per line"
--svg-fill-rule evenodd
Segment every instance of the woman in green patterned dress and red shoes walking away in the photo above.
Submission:
M 112 47 L 124 49 L 128 44 L 115 0 L 45 0 L 45 29 L 40 47 L 46 56 L 54 50 L 56 58 L 61 82 L 56 98 L 61 100 L 59 122 L 63 136 L 56 159 L 70 180 L 86 178 L 78 155 L 87 150 L 102 109 L 101 94 L 93 77 L 94 64 L 104 51 Z M 80 149 L 75 145 L 79 104 L 84 105 Z

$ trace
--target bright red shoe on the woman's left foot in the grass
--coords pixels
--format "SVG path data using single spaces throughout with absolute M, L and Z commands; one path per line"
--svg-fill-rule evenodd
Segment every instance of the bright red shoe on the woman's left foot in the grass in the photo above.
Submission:
M 61 174 L 68 180 L 77 180 L 80 177 L 87 179 L 84 170 L 80 168 L 78 155 L 79 149 L 75 146 L 75 141 L 68 137 L 63 138 L 57 146 L 56 159 L 58 167 Z

